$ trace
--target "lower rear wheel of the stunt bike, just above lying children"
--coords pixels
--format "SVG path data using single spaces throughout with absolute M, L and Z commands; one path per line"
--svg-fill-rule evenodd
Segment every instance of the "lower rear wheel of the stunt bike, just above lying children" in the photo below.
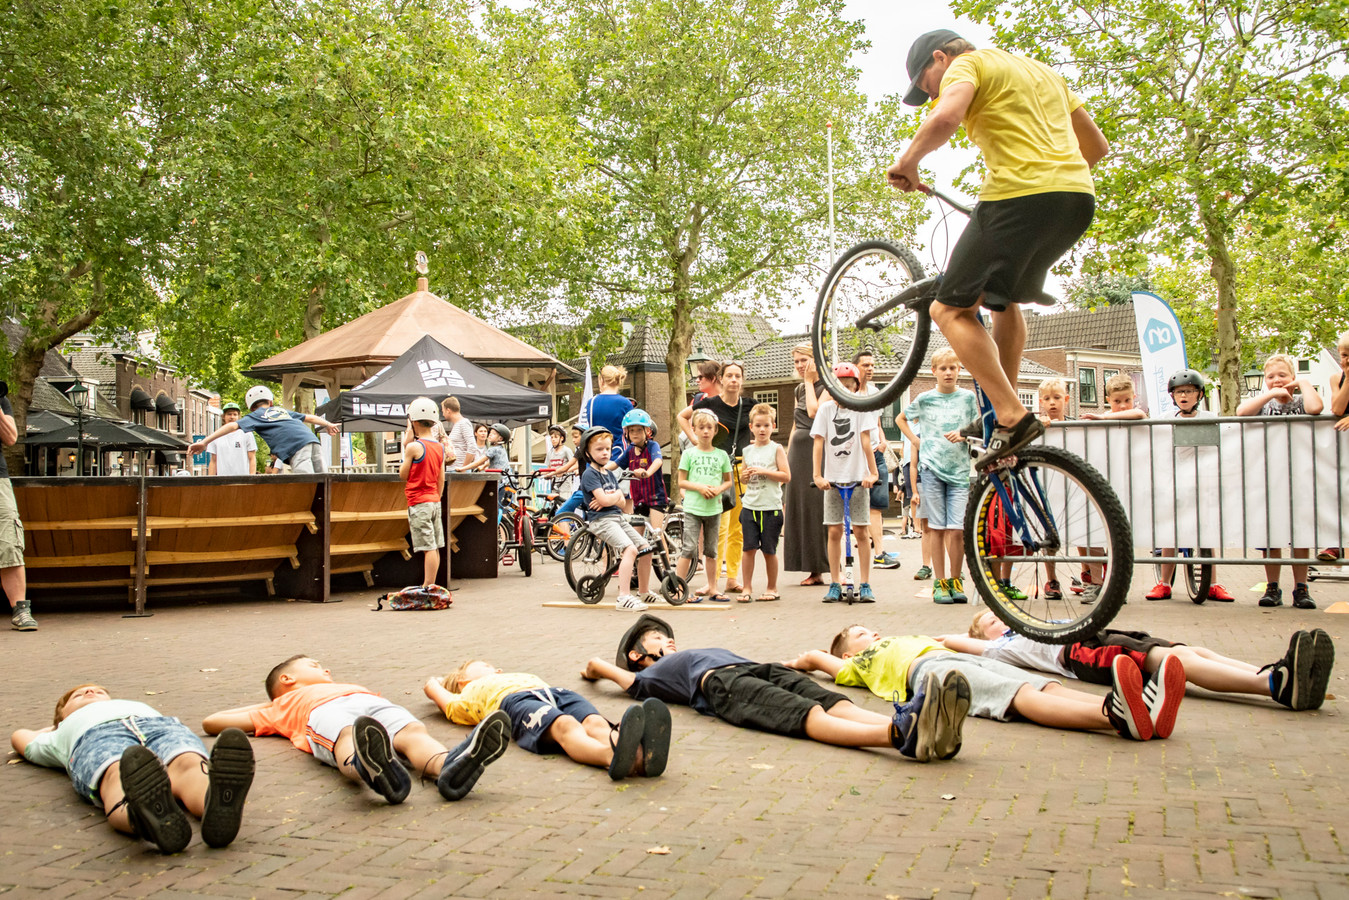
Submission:
M 1045 644 L 1071 644 L 1098 633 L 1124 604 L 1133 536 L 1099 472 L 1067 451 L 1037 445 L 970 484 L 965 557 L 979 596 L 1008 627 Z M 1102 579 L 1095 598 L 1044 595 L 1047 582 L 1083 563 L 1094 582 Z

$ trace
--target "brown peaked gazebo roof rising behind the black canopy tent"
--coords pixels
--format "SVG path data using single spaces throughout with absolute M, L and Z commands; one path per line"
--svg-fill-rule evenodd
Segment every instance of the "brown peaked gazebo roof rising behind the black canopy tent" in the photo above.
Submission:
M 430 293 L 425 278 L 418 278 L 417 290 L 402 300 L 264 359 L 244 375 L 268 381 L 289 375 L 316 385 L 333 381 L 341 386 L 357 385 L 402 356 L 424 335 L 478 366 L 552 368 L 557 370 L 560 381 L 580 379 L 553 356 Z M 313 378 L 306 378 L 310 374 Z

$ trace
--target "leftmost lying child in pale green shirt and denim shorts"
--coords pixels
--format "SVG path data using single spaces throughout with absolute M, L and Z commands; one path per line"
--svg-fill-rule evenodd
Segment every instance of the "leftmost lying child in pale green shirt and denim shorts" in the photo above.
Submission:
M 201 839 L 227 846 L 239 834 L 252 785 L 252 745 L 225 729 L 210 749 L 178 719 L 98 684 L 61 695 L 53 723 L 19 729 L 9 743 L 28 762 L 65 769 L 76 793 L 101 806 L 108 824 L 178 853 L 192 841 L 182 807 L 201 819 Z

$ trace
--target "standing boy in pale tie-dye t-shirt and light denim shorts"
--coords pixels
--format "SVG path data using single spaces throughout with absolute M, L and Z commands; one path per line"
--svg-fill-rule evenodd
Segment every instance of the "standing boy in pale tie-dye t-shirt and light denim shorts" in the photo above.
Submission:
M 965 505 L 970 498 L 970 451 L 960 429 L 979 417 L 974 391 L 956 387 L 960 360 L 950 347 L 932 354 L 936 390 L 923 391 L 898 417 L 900 430 L 916 441 L 909 420 L 923 428 L 923 518 L 932 538 L 936 583 L 934 603 L 965 603 L 960 561 L 965 559 Z M 950 568 L 947 568 L 950 565 Z M 946 578 L 950 573 L 951 578 Z

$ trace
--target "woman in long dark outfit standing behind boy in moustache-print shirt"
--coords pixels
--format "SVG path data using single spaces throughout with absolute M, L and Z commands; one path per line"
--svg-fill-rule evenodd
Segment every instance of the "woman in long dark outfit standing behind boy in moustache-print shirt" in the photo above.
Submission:
M 828 571 L 830 559 L 824 549 L 824 495 L 811 483 L 811 457 L 815 452 L 811 426 L 815 425 L 824 385 L 815 371 L 808 343 L 792 348 L 792 366 L 801 383 L 796 386 L 792 432 L 786 439 L 786 467 L 792 471 L 792 480 L 782 488 L 782 568 L 805 572 L 803 587 L 823 586 L 820 576 Z

